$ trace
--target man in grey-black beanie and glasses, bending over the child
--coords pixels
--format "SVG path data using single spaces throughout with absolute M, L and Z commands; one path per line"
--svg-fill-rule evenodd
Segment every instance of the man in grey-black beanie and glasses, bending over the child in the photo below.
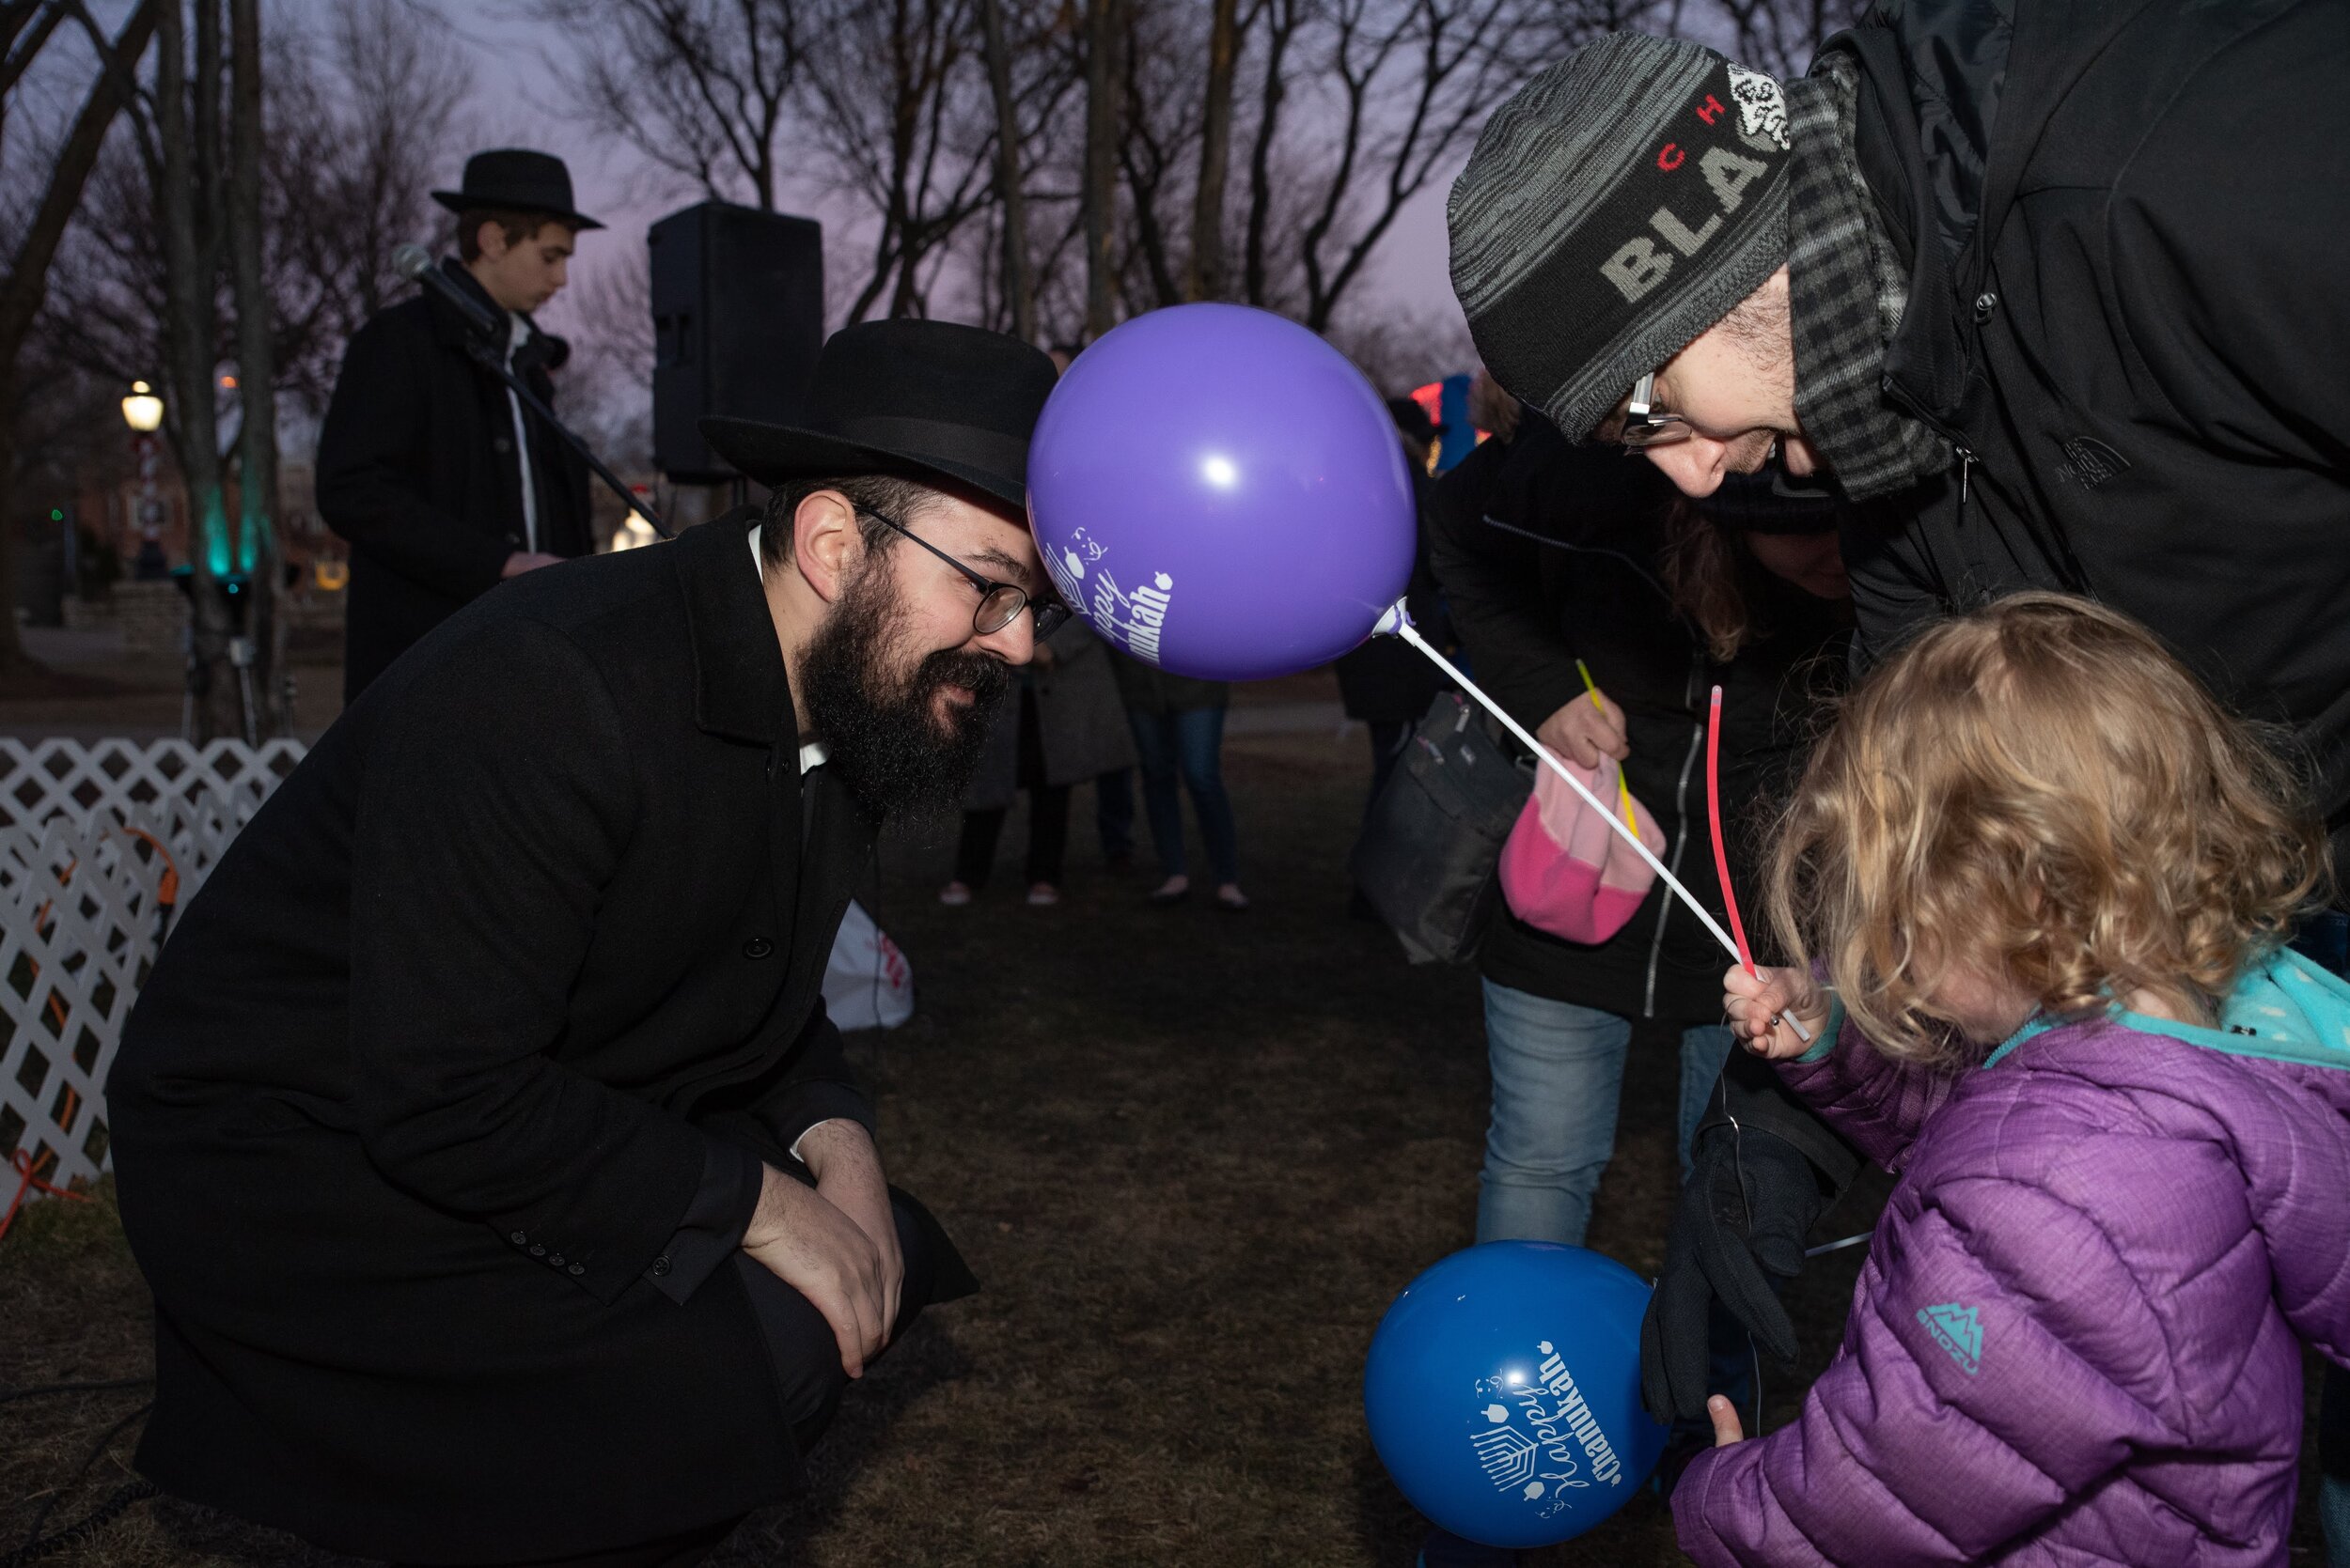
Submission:
M 1842 540 L 1861 662 L 2019 589 L 2150 627 L 2294 732 L 2341 880 L 2350 293 L 2310 279 L 2341 275 L 2350 181 L 2305 106 L 2345 68 L 2326 0 L 1887 5 L 1788 82 L 1614 33 L 1485 124 L 1452 284 L 1570 439 L 1687 495 L 1777 455 L 1885 507 Z M 1741 1056 L 1716 1110 L 1650 1310 L 1659 1415 L 1704 1411 L 1708 1296 L 1793 1352 L 1770 1282 L 1856 1167 Z M 2324 1469 L 2350 1563 L 2350 1439 Z

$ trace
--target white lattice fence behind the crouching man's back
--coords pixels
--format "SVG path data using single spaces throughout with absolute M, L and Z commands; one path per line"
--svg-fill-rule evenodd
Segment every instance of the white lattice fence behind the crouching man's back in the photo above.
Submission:
M 0 739 L 0 1160 L 54 1185 L 106 1164 L 106 1073 L 172 904 L 303 749 Z M 0 1207 L 16 1171 L 0 1171 Z

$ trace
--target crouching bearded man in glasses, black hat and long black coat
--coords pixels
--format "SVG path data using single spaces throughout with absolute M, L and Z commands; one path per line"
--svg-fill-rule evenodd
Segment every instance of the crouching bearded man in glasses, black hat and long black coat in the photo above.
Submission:
M 698 1561 L 975 1289 L 822 974 L 1060 622 L 1050 390 L 973 326 L 837 333 L 811 427 L 705 423 L 764 509 L 456 613 L 237 836 L 108 1084 L 157 1486 L 362 1556 Z

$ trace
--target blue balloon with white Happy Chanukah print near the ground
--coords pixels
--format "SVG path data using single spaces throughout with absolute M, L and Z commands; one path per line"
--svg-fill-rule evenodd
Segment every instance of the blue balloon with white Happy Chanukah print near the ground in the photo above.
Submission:
M 1434 1523 L 1549 1547 L 1624 1507 L 1664 1453 L 1640 1408 L 1647 1284 L 1553 1242 L 1488 1242 L 1419 1275 L 1379 1319 L 1363 1413 Z

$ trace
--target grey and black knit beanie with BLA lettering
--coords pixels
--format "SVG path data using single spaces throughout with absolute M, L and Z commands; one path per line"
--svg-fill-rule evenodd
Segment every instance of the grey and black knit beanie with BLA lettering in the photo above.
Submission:
M 1704 45 L 1610 33 L 1495 110 L 1452 183 L 1485 369 L 1584 439 L 1786 261 L 1786 94 Z

